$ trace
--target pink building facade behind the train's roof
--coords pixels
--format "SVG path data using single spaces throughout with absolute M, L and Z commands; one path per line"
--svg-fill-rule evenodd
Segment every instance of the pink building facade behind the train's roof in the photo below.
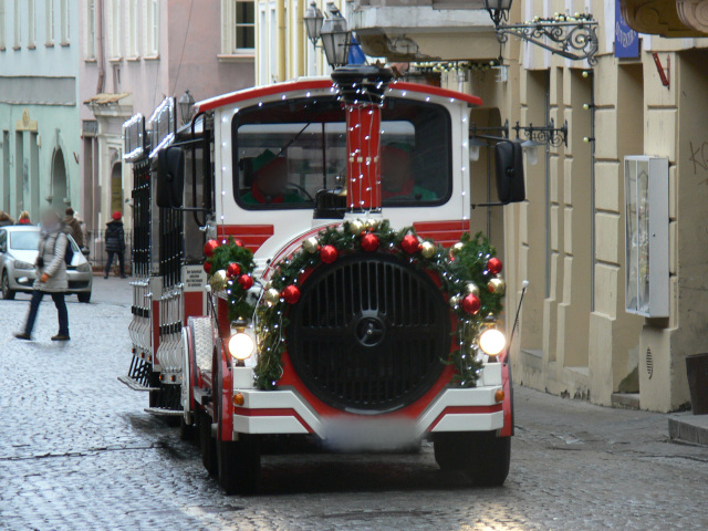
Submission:
M 149 118 L 166 96 L 189 91 L 204 100 L 251 86 L 254 30 L 248 20 L 253 2 L 77 3 L 82 199 L 93 212 L 86 222 L 101 230 L 117 210 L 129 226 L 132 181 L 122 163 L 123 123 L 137 113 Z

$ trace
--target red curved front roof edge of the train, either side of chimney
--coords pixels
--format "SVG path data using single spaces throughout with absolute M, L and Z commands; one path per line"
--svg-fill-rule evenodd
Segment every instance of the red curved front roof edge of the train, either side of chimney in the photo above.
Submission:
M 201 102 L 197 102 L 195 104 L 195 111 L 197 113 L 202 113 L 205 111 L 211 111 L 225 105 L 230 105 L 232 103 L 243 102 L 247 100 L 267 97 L 287 92 L 314 91 L 332 87 L 334 87 L 334 84 L 329 77 L 311 77 L 304 80 L 287 81 L 273 85 L 243 88 L 241 91 L 231 92 L 229 94 L 222 94 L 219 96 L 210 97 L 208 100 L 202 100 Z M 438 86 L 423 85 L 419 83 L 408 83 L 404 81 L 394 81 L 388 85 L 388 87 L 397 91 L 415 92 L 419 94 L 428 94 L 431 96 L 449 98 L 451 101 L 465 102 L 468 105 L 479 106 L 482 104 L 481 98 L 478 96 L 472 96 L 471 94 L 464 94 L 456 91 L 449 91 L 447 88 L 440 88 Z

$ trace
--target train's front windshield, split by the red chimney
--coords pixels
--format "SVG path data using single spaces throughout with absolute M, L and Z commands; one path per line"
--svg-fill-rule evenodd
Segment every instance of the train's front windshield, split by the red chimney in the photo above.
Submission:
M 314 207 L 346 183 L 346 125 L 334 96 L 263 104 L 233 117 L 233 189 L 247 209 Z M 445 107 L 386 98 L 382 115 L 384 207 L 437 206 L 451 190 Z

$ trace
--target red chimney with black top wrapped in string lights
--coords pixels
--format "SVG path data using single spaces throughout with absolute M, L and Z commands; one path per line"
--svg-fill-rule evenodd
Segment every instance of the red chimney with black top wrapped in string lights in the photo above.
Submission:
M 346 113 L 347 207 L 381 211 L 381 108 L 393 73 L 378 66 L 348 65 L 332 72 Z

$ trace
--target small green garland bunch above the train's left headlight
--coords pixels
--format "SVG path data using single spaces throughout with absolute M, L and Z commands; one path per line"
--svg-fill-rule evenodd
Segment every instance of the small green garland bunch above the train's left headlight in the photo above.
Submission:
M 207 259 L 207 262 L 211 266 L 209 272 L 211 287 L 217 291 L 226 290 L 229 302 L 229 321 L 250 320 L 254 306 L 246 300 L 247 290 L 237 281 L 238 277 L 229 278 L 227 271 L 231 263 L 238 263 L 239 275 L 250 275 L 256 268 L 253 252 L 243 244 L 238 244 L 233 237 L 229 237 L 226 243 L 214 249 L 214 253 Z

